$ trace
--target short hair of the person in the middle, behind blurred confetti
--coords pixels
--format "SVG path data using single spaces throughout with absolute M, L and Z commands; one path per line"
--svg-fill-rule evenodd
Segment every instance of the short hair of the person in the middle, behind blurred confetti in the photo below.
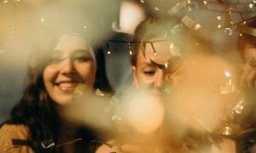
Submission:
M 167 33 L 167 37 L 166 37 Z M 135 43 L 131 54 L 131 65 L 136 66 L 137 54 L 143 42 L 155 37 L 166 37 L 174 42 L 181 52 L 189 51 L 189 45 L 199 42 L 202 47 L 207 47 L 209 42 L 200 35 L 201 33 L 185 26 L 182 19 L 177 16 L 149 17 L 137 26 L 133 42 Z M 211 50 L 212 49 L 208 49 Z

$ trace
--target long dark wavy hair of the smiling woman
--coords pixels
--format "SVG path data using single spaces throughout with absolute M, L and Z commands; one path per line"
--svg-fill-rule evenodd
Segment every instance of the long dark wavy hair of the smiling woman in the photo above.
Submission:
M 51 37 L 49 37 L 51 36 Z M 31 138 L 30 146 L 36 152 L 60 152 L 55 147 L 50 150 L 44 150 L 41 147 L 42 141 L 57 141 L 60 136 L 61 116 L 57 112 L 57 105 L 50 99 L 49 94 L 44 87 L 43 72 L 44 68 L 49 64 L 49 51 L 54 48 L 55 42 L 61 36 L 61 32 L 49 35 L 45 41 L 35 42 L 36 52 L 33 52 L 28 61 L 27 86 L 21 99 L 11 111 L 11 117 L 8 122 L 10 124 L 24 124 L 29 128 Z M 81 36 L 83 37 L 83 36 Z M 42 40 L 42 39 L 41 39 Z M 109 85 L 105 72 L 105 59 L 101 50 L 95 52 L 96 55 L 96 82 L 94 88 L 99 88 L 103 92 L 111 93 L 112 89 Z M 83 127 L 78 128 L 77 133 L 88 141 L 96 139 L 96 135 L 89 129 Z M 76 151 L 83 150 L 86 152 L 94 151 L 89 146 L 88 141 L 81 147 L 74 147 Z M 58 142 L 55 142 L 58 143 Z M 86 148 L 87 147 L 87 148 Z M 79 151 L 80 152 L 80 151 Z

